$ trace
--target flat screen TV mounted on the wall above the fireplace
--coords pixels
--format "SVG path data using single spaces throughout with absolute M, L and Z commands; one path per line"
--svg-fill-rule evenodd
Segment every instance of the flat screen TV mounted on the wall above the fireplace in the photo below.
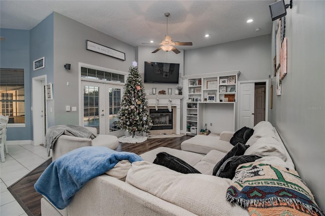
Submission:
M 178 83 L 179 64 L 145 61 L 144 82 Z

